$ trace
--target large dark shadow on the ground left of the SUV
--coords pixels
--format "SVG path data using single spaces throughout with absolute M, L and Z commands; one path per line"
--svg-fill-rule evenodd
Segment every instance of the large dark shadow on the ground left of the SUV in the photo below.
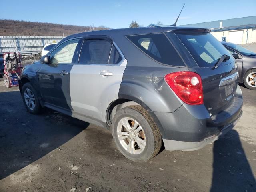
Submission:
M 0 180 L 52 150 L 61 150 L 89 125 L 52 110 L 29 114 L 19 91 L 0 92 L 0 98 Z

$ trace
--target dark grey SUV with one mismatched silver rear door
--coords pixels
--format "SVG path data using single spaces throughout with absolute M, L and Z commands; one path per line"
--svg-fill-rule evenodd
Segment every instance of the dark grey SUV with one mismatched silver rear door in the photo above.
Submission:
M 120 152 L 137 162 L 162 142 L 166 150 L 202 148 L 242 114 L 235 60 L 202 28 L 74 34 L 26 66 L 19 87 L 30 113 L 48 107 L 111 128 Z

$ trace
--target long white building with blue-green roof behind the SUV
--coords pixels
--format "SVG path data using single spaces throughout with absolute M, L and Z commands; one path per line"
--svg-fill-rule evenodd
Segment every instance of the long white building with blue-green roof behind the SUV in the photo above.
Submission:
M 150 24 L 153 26 L 168 26 Z M 256 42 L 256 16 L 225 19 L 204 23 L 180 25 L 184 27 L 199 27 L 212 30 L 212 35 L 219 41 L 232 42 L 235 44 L 247 44 Z

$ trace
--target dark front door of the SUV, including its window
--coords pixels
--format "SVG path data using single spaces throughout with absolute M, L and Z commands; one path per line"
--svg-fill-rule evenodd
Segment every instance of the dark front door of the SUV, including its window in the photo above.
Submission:
M 42 101 L 45 106 L 71 115 L 70 71 L 79 38 L 67 40 L 48 56 L 49 64 L 43 64 L 38 72 Z M 58 108 L 58 109 L 57 109 Z

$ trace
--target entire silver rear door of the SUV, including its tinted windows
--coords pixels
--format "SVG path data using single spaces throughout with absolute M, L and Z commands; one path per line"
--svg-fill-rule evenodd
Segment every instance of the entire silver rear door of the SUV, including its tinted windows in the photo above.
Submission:
M 106 109 L 118 98 L 126 63 L 110 38 L 84 38 L 70 73 L 72 116 L 104 126 Z

